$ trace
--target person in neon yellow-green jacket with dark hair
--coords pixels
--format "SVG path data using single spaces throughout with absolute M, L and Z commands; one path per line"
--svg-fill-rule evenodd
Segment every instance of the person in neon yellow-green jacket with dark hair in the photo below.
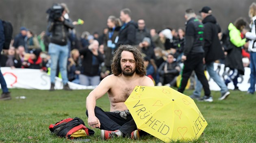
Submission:
M 228 77 L 225 80 L 225 84 L 228 85 L 231 81 L 234 84 L 234 90 L 239 90 L 237 84 L 237 78 L 239 74 L 244 75 L 245 69 L 242 61 L 242 47 L 246 42 L 246 38 L 241 38 L 241 31 L 245 28 L 246 21 L 243 18 L 238 18 L 233 23 L 228 25 L 230 44 L 225 49 L 227 56 L 225 59 L 225 67 L 230 68 Z

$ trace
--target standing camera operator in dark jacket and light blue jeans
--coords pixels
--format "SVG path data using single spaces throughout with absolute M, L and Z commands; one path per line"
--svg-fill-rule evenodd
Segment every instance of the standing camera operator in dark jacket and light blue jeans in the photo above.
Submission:
M 51 57 L 50 91 L 54 90 L 55 76 L 58 64 L 63 80 L 63 89 L 71 90 L 67 84 L 67 58 L 69 55 L 67 36 L 69 29 L 73 29 L 74 25 L 71 23 L 71 21 L 64 18 L 65 14 L 66 11 L 64 11 L 63 6 L 60 4 L 54 4 L 49 12 L 47 29 L 48 32 L 51 33 L 48 52 Z

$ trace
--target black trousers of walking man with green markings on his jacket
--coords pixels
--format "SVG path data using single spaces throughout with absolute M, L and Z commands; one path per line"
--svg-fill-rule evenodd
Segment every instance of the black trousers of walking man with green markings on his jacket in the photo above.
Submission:
M 200 82 L 203 85 L 204 88 L 204 95 L 210 96 L 210 88 L 208 84 L 208 80 L 206 79 L 204 75 L 204 64 L 203 64 L 203 53 L 197 53 L 197 54 L 191 54 L 187 56 L 187 60 L 184 61 L 184 66 L 182 69 L 182 78 L 180 82 L 180 87 L 178 88 L 178 91 L 180 93 L 183 93 L 187 82 L 189 80 L 189 77 L 191 76 L 192 71 L 195 71 L 195 74 L 200 80 Z

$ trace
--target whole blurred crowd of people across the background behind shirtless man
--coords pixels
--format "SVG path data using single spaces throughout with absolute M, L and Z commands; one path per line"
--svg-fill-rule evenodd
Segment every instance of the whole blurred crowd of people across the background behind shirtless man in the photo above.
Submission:
M 55 76 L 62 78 L 64 90 L 72 90 L 68 81 L 97 86 L 112 74 L 115 51 L 119 46 L 129 44 L 141 51 L 146 75 L 156 86 L 176 86 L 178 91 L 183 92 L 190 78 L 190 82 L 195 83 L 191 84 L 191 88 L 195 88 L 191 98 L 211 102 L 213 99 L 204 75 L 206 69 L 221 88 L 219 99 L 223 100 L 230 94 L 227 84 L 232 81 L 235 89 L 238 89 L 237 78 L 239 74 L 244 74 L 244 67 L 250 65 L 252 85 L 248 93 L 255 91 L 255 62 L 252 60 L 255 57 L 255 49 L 252 48 L 255 3 L 249 11 L 252 32 L 248 32 L 247 21 L 243 18 L 238 18 L 229 24 L 226 31 L 223 30 L 225 28 L 221 31 L 208 6 L 202 8 L 200 15 L 188 9 L 185 13 L 186 27 L 180 27 L 177 31 L 170 27 L 160 31 L 148 29 L 144 19 L 133 21 L 130 9 L 125 8 L 121 10 L 119 18 L 113 15 L 108 17 L 103 34 L 85 31 L 80 37 L 75 30 L 78 22 L 69 18 L 66 4 L 60 5 L 63 7 L 62 16 L 49 18 L 46 31 L 38 36 L 26 27 L 20 27 L 20 33 L 13 38 L 9 50 L 1 53 L 1 67 L 49 72 L 50 91 L 54 90 Z M 214 62 L 223 63 L 231 69 L 232 72 L 224 81 L 213 70 Z M 182 80 L 177 85 L 179 75 Z M 200 98 L 202 88 L 205 96 Z

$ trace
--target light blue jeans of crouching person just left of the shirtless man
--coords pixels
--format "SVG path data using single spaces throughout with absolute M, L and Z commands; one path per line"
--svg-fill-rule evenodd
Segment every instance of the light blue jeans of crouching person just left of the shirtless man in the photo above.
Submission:
M 86 76 L 84 74 L 79 74 L 79 82 L 82 85 L 99 85 L 100 84 L 100 76 Z

